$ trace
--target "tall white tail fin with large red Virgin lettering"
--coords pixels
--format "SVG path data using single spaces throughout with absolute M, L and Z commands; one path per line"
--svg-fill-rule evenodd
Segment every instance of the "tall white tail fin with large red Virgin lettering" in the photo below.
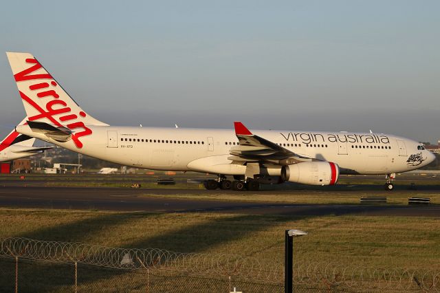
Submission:
M 72 130 L 78 148 L 83 147 L 80 138 L 92 134 L 88 125 L 108 125 L 83 111 L 32 54 L 6 54 L 29 121 Z

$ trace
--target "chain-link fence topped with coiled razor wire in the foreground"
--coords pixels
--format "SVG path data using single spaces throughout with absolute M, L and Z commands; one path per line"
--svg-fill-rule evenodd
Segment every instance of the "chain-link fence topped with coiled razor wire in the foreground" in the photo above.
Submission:
M 284 292 L 283 264 L 85 243 L 0 240 L 2 292 Z M 440 272 L 304 261 L 295 292 L 440 292 Z

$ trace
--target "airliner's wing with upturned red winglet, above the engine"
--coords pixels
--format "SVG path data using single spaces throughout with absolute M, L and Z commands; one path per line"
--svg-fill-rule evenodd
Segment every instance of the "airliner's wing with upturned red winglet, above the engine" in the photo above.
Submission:
M 229 160 L 235 162 L 262 162 L 263 164 L 290 165 L 316 160 L 298 155 L 270 140 L 252 134 L 241 122 L 234 122 L 239 145 L 230 149 Z

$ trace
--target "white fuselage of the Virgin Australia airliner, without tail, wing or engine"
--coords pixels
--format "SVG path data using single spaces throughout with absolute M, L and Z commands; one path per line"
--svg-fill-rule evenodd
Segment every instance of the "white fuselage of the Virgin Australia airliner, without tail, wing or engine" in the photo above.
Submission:
M 28 131 L 26 131 L 28 129 Z M 231 164 L 230 149 L 239 142 L 232 129 L 96 127 L 81 138 L 56 142 L 23 126 L 17 131 L 91 157 L 142 169 L 199 171 L 243 175 L 245 166 Z M 26 133 L 29 132 L 29 133 Z M 432 162 L 419 142 L 382 133 L 253 131 L 298 155 L 335 162 L 341 174 L 380 175 L 418 169 Z M 277 175 L 276 169 L 270 175 Z

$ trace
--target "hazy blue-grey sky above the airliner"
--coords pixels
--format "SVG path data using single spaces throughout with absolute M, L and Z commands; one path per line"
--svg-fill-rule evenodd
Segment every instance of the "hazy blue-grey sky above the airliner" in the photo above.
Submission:
M 440 1 L 5 1 L 31 52 L 109 124 L 440 138 Z M 4 53 L 0 135 L 24 116 Z

